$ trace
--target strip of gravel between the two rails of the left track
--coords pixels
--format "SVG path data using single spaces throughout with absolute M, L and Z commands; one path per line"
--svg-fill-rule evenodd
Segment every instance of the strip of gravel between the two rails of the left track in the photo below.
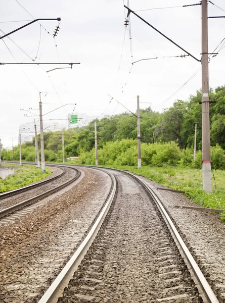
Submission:
M 55 168 L 55 167 L 49 167 L 49 168 L 53 171 L 53 173 L 51 175 L 49 175 L 48 177 L 46 177 L 42 180 L 33 182 L 31 184 L 39 183 L 43 180 L 53 178 L 62 173 L 62 170 L 60 168 Z M 62 184 L 64 182 L 66 182 L 67 180 L 69 180 L 70 178 L 72 178 L 73 175 L 76 175 L 76 171 L 74 171 L 73 169 L 70 169 L 70 168 L 65 168 L 65 169 L 66 169 L 66 173 L 59 179 L 56 179 L 47 184 L 40 185 L 39 187 L 30 189 L 28 191 L 24 191 L 19 194 L 10 196 L 8 198 L 1 198 L 0 199 L 0 210 L 4 210 L 8 207 L 11 207 L 15 204 L 18 204 L 18 203 L 24 201 L 26 199 L 32 198 L 35 195 L 38 195 L 40 193 L 53 189 L 53 188 L 57 187 L 59 184 Z

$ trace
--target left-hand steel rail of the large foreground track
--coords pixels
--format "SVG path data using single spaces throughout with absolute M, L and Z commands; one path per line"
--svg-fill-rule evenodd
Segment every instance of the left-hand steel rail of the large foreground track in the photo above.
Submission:
M 82 241 L 82 243 L 79 245 L 77 250 L 75 251 L 72 258 L 69 260 L 69 262 L 65 265 L 63 270 L 60 272 L 60 274 L 57 276 L 57 278 L 53 281 L 51 286 L 48 288 L 48 290 L 44 293 L 44 295 L 41 297 L 41 299 L 38 301 L 38 303 L 55 303 L 57 302 L 60 295 L 63 293 L 64 287 L 68 285 L 69 280 L 72 278 L 73 273 L 76 271 L 77 267 L 83 260 L 83 257 L 85 256 L 88 248 L 92 245 L 92 242 L 94 241 L 100 227 L 102 226 L 102 223 L 110 209 L 110 206 L 112 204 L 112 201 L 115 196 L 116 192 L 116 179 L 115 177 L 108 173 L 112 179 L 112 186 L 110 195 L 108 196 L 107 202 L 102 209 L 98 219 L 94 223 L 91 230 L 88 232 L 85 239 Z

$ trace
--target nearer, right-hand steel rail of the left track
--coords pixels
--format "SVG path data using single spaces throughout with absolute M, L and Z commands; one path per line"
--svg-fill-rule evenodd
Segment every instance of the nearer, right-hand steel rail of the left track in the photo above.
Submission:
M 57 165 L 57 166 L 59 166 L 59 165 Z M 64 166 L 64 167 L 66 167 L 66 166 Z M 57 187 L 55 187 L 53 189 L 50 189 L 50 190 L 48 190 L 46 192 L 43 192 L 43 193 L 40 193 L 40 194 L 38 194 L 38 195 L 36 195 L 36 196 L 34 196 L 32 198 L 29 198 L 29 199 L 27 199 L 25 201 L 22 201 L 22 202 L 20 202 L 20 203 L 18 203 L 16 205 L 11 206 L 11 207 L 9 207 L 9 208 L 7 208 L 5 210 L 0 211 L 0 218 L 6 216 L 8 214 L 11 214 L 14 211 L 17 211 L 18 209 L 21 209 L 21 208 L 23 208 L 23 207 L 25 207 L 27 205 L 30 205 L 30 204 L 36 202 L 37 200 L 40 200 L 43 197 L 49 196 L 49 195 L 51 195 L 51 194 L 59 191 L 60 189 L 68 186 L 69 184 L 71 184 L 75 180 L 77 180 L 80 177 L 80 171 L 78 169 L 76 169 L 76 168 L 72 168 L 72 167 L 68 167 L 68 168 L 76 170 L 77 171 L 77 175 L 74 176 L 74 177 L 72 177 L 72 178 L 70 178 L 66 182 L 60 184 L 59 186 L 57 186 Z

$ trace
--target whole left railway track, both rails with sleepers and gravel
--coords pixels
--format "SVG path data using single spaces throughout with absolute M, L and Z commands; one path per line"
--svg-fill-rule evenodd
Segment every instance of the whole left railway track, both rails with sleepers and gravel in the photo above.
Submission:
M 62 194 L 63 189 L 67 190 L 66 187 L 80 177 L 80 171 L 76 168 L 56 167 L 62 171 L 58 176 L 0 195 L 0 226 L 12 224 L 43 206 L 57 194 Z

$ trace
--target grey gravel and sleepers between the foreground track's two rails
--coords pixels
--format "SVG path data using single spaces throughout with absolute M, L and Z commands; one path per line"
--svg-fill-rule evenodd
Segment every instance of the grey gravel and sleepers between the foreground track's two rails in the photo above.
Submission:
M 130 177 L 116 178 L 114 207 L 58 302 L 198 302 L 151 199 Z

